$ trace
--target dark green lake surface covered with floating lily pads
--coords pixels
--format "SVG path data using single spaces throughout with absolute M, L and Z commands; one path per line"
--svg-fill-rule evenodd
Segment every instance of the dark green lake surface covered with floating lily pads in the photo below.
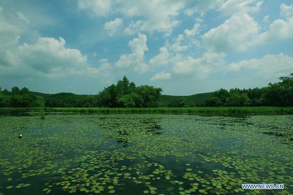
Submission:
M 287 195 L 292 149 L 286 115 L 2 113 L 0 195 Z

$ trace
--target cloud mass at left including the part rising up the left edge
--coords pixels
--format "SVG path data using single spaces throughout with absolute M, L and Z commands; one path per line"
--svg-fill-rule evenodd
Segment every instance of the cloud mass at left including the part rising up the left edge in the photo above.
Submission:
M 21 73 L 26 77 L 64 77 L 81 74 L 95 76 L 93 73 L 99 72 L 99 68 L 89 64 L 80 50 L 66 47 L 61 37 L 39 37 L 32 43 L 19 45 L 18 40 L 26 30 L 24 23 L 27 22 L 19 16 L 14 20 L 0 17 L 0 75 L 19 76 Z M 105 65 L 101 68 L 104 70 Z

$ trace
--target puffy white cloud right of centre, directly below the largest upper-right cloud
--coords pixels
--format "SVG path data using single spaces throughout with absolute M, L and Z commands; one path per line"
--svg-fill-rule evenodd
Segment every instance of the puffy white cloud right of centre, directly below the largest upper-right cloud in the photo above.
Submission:
M 182 55 L 176 55 L 172 60 L 175 74 L 192 75 L 194 78 L 203 79 L 209 76 L 213 68 L 226 64 L 224 53 L 204 53 L 201 58 L 194 59 Z

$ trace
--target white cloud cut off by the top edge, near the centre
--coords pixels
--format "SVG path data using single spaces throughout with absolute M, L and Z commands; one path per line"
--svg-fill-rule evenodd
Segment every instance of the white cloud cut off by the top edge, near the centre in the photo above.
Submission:
M 179 0 L 118 0 L 117 11 L 126 17 L 142 17 L 140 21 L 131 23 L 128 29 L 140 28 L 140 31 L 158 31 L 170 34 L 180 21 L 179 15 L 186 1 Z M 130 32 L 129 30 L 126 32 Z

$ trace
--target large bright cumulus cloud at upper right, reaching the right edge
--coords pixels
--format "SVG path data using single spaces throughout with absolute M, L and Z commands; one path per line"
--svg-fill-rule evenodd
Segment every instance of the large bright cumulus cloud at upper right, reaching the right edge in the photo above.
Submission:
M 239 12 L 216 28 L 212 28 L 202 37 L 203 46 L 213 52 L 247 50 L 250 46 L 293 37 L 292 6 L 281 4 L 280 15 L 285 20 L 274 20 L 268 30 L 260 33 L 260 26 L 247 13 Z M 264 18 L 268 23 L 269 16 Z

